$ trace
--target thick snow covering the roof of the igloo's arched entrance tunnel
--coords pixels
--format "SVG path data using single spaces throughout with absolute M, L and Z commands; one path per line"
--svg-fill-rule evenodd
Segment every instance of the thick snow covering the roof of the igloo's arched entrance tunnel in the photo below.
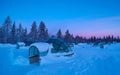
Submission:
M 48 44 L 48 43 L 33 43 L 30 45 L 30 47 L 36 47 L 39 52 L 45 52 L 47 50 L 49 50 L 50 48 L 52 48 L 52 45 L 51 44 Z

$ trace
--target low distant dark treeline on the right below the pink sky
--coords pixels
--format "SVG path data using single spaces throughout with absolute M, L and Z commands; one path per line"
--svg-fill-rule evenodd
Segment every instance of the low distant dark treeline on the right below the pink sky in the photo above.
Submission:
M 80 36 L 76 36 L 75 37 L 75 43 L 114 43 L 114 42 L 120 42 L 120 37 L 114 37 L 113 35 L 108 35 L 108 36 L 104 36 L 104 37 L 95 37 L 92 36 L 90 38 L 86 38 L 86 37 L 80 37 Z

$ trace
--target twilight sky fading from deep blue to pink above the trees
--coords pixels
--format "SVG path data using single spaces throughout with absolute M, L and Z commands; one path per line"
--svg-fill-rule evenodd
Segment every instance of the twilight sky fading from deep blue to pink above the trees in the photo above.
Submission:
M 120 36 L 120 0 L 0 0 L 0 24 L 7 16 L 28 28 L 42 20 L 50 34 Z

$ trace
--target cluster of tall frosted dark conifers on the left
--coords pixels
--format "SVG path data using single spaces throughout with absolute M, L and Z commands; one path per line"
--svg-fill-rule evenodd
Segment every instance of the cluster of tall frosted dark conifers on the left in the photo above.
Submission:
M 16 25 L 15 22 L 12 23 L 8 16 L 0 26 L 0 43 L 15 44 L 17 42 L 25 42 L 29 44 L 49 38 L 44 22 L 41 21 L 39 27 L 37 27 L 34 21 L 31 26 L 31 30 L 28 32 L 27 28 L 24 28 L 21 23 L 19 25 Z

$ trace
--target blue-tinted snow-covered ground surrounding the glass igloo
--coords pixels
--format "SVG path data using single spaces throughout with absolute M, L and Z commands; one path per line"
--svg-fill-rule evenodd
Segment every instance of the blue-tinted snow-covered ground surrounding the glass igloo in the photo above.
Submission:
M 31 65 L 28 47 L 0 44 L 0 75 L 120 75 L 120 44 L 99 46 L 79 44 L 72 57 L 42 57 Z

